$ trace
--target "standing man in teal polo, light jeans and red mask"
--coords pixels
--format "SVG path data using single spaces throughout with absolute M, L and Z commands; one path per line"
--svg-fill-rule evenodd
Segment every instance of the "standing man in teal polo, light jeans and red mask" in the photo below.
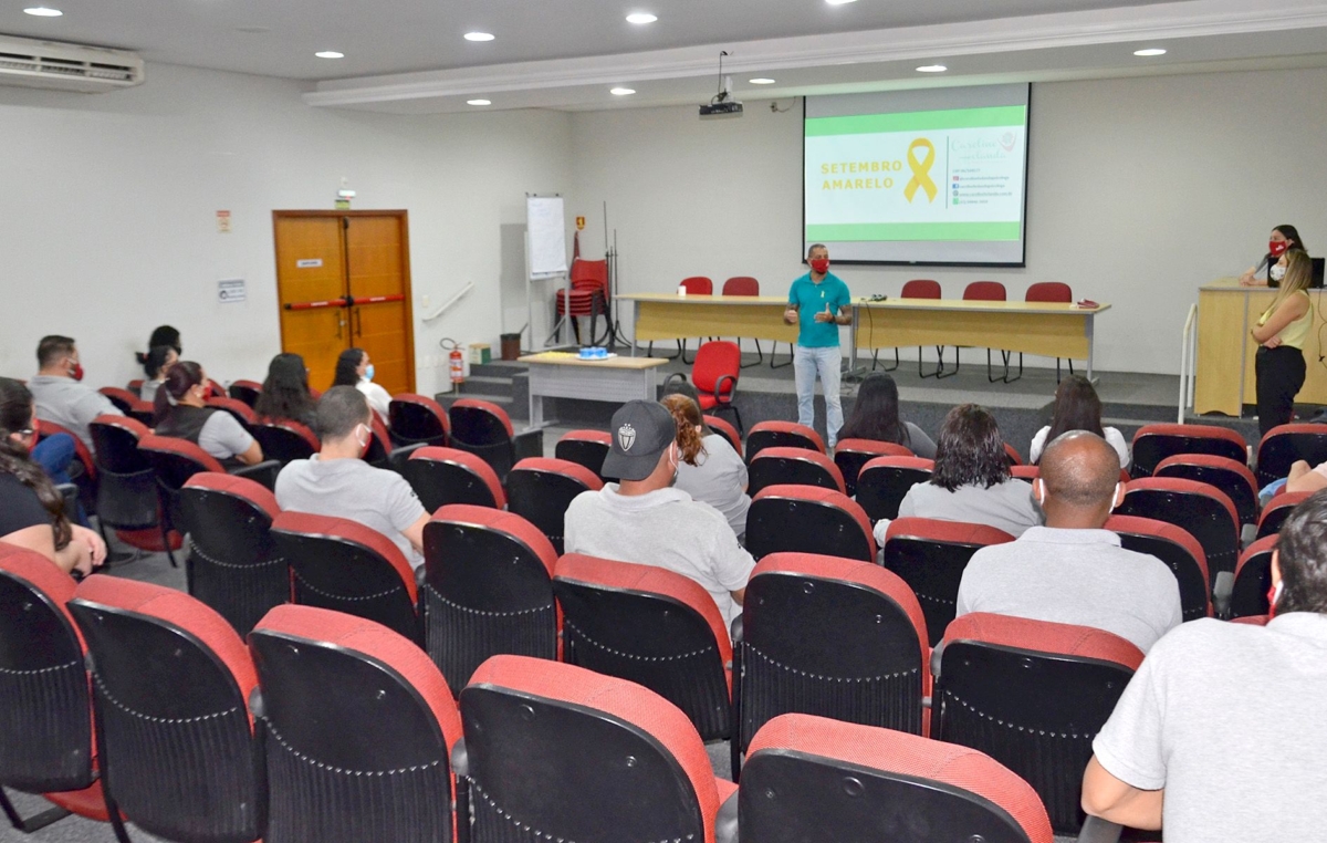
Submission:
M 829 273 L 829 250 L 816 243 L 807 250 L 811 272 L 792 281 L 783 321 L 800 323 L 798 345 L 792 350 L 792 370 L 798 381 L 798 423 L 815 425 L 816 374 L 825 393 L 825 433 L 829 447 L 843 427 L 843 401 L 839 397 L 839 325 L 852 323 L 848 285 Z

